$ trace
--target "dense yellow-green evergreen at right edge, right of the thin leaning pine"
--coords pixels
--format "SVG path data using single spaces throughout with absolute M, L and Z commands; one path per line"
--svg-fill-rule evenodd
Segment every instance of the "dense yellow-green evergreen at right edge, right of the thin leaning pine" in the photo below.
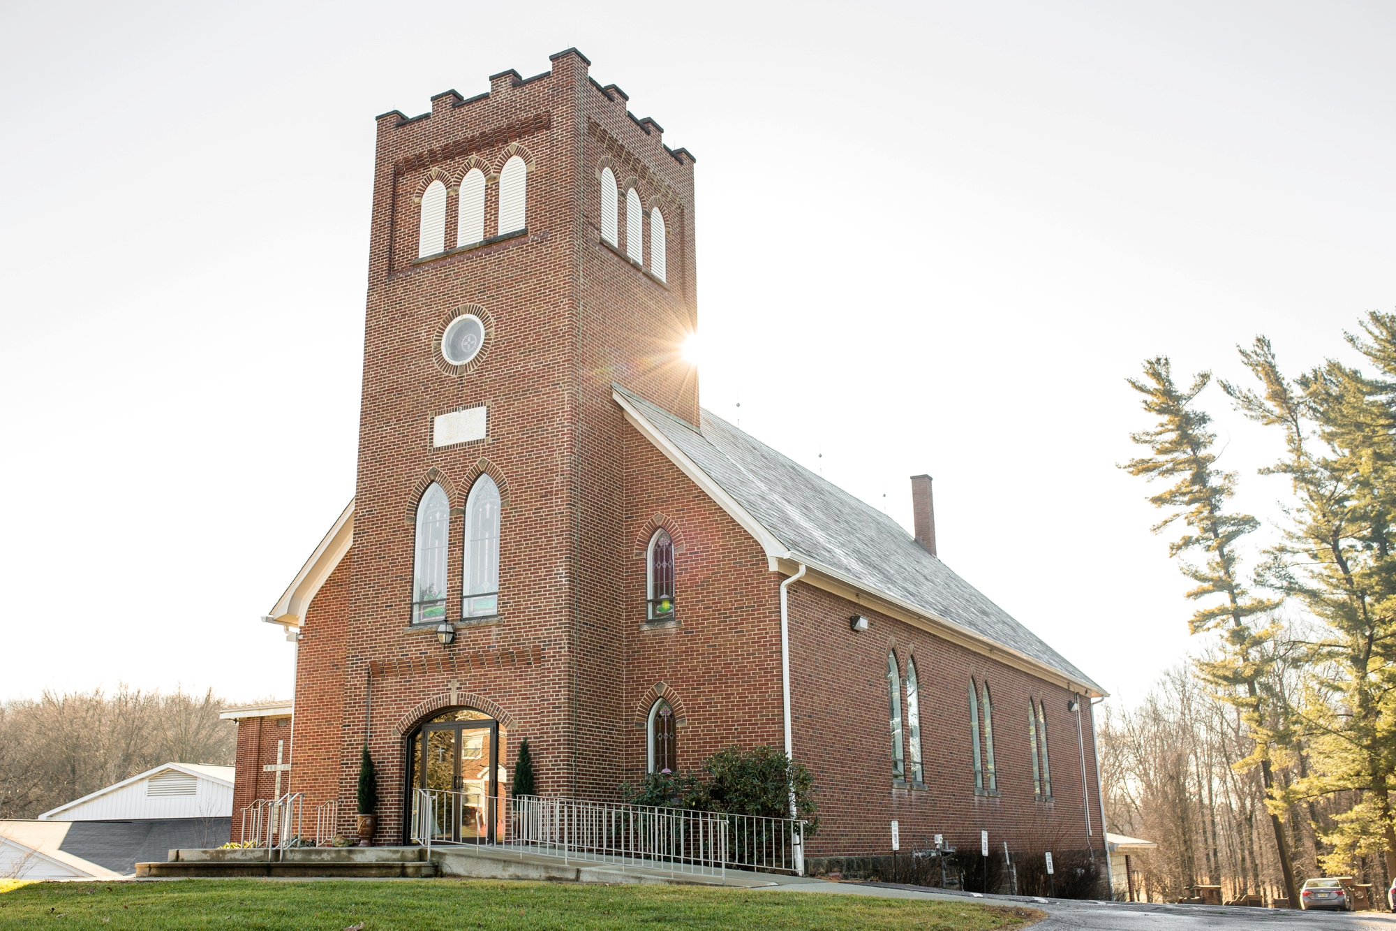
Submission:
M 1284 431 L 1295 506 L 1272 551 L 1272 584 L 1326 626 L 1308 643 L 1309 700 L 1301 727 L 1315 751 L 1293 800 L 1354 791 L 1360 802 L 1325 835 L 1325 865 L 1383 854 L 1396 875 L 1396 316 L 1371 313 L 1349 342 L 1385 377 L 1336 361 L 1294 382 L 1265 337 L 1241 359 L 1263 391 L 1223 384 L 1251 419 Z

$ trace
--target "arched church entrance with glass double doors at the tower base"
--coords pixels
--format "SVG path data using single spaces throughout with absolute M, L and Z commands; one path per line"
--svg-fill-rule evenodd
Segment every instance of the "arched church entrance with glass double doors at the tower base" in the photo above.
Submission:
M 408 738 L 408 807 L 433 843 L 480 843 L 498 836 L 504 777 L 504 731 L 475 709 L 454 709 L 423 721 Z

